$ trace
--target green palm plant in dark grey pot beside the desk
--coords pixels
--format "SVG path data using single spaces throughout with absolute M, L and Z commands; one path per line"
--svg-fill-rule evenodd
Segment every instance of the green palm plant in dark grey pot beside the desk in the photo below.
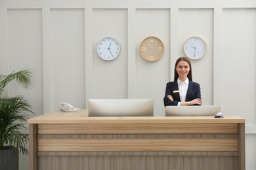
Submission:
M 29 113 L 33 113 L 32 105 L 24 99 L 23 95 L 14 97 L 3 94 L 5 88 L 12 80 L 24 88 L 32 84 L 33 74 L 30 69 L 22 69 L 12 72 L 9 75 L 0 75 L 0 167 L 1 169 L 18 169 L 17 161 L 19 152 L 28 154 L 28 134 L 23 134 L 20 129 L 26 128 L 24 125 L 29 118 Z M 9 155 L 10 154 L 10 155 Z M 4 165 L 7 164 L 7 165 Z M 7 167 L 3 167 L 7 166 Z

